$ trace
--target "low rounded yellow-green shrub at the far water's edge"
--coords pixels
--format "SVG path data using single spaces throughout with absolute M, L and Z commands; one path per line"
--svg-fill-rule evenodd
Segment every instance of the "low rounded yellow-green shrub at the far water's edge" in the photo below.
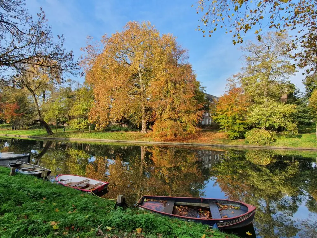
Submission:
M 270 131 L 253 128 L 245 134 L 245 141 L 256 145 L 270 145 L 275 141 L 275 136 Z

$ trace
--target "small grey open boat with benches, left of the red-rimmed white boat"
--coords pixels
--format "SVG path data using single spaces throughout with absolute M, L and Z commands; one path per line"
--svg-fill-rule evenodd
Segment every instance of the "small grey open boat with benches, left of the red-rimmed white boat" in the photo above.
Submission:
M 51 173 L 51 170 L 43 168 L 35 164 L 29 164 L 22 161 L 11 160 L 9 161 L 8 167 L 15 167 L 16 172 L 21 174 L 35 175 L 37 177 L 42 177 L 42 172 L 47 171 L 47 176 Z

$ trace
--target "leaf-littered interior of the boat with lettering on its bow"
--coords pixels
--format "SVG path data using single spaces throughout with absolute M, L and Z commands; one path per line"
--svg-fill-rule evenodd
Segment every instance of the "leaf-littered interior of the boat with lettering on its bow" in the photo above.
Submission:
M 139 205 L 158 212 L 164 212 L 171 215 L 181 215 L 191 218 L 203 219 L 222 219 L 235 216 L 241 216 L 248 212 L 248 208 L 241 203 L 235 203 L 226 200 L 207 200 L 201 201 L 178 201 L 170 198 L 169 200 L 160 200 L 162 198 L 146 197 Z

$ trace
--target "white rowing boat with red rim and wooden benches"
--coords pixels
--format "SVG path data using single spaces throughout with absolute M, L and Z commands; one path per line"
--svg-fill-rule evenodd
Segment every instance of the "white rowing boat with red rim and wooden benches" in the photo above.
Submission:
M 55 181 L 70 188 L 92 193 L 99 193 L 102 190 L 107 189 L 109 184 L 108 182 L 102 182 L 79 175 L 67 174 L 56 175 Z

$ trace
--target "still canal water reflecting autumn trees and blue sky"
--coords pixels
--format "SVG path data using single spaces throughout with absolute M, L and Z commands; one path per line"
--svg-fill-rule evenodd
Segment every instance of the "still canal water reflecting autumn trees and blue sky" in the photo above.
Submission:
M 109 182 L 106 198 L 143 195 L 227 198 L 257 207 L 242 237 L 317 237 L 316 151 L 132 146 L 0 139 L 2 151 L 30 152 L 52 175 Z M 252 235 L 246 235 L 245 232 Z

